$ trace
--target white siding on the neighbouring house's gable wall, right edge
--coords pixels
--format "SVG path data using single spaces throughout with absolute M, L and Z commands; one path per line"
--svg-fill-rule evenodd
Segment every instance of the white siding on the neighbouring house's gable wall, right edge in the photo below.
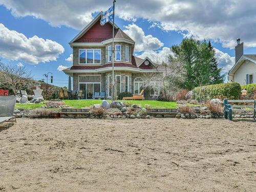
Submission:
M 253 83 L 256 83 L 256 63 L 246 60 L 234 73 L 234 82 L 246 84 L 246 74 L 253 74 Z

